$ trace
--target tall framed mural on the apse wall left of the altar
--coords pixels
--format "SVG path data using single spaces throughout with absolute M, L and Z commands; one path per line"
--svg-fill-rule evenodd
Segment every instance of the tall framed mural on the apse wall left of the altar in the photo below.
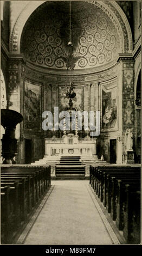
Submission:
M 42 84 L 24 81 L 24 129 L 41 130 L 41 88 Z

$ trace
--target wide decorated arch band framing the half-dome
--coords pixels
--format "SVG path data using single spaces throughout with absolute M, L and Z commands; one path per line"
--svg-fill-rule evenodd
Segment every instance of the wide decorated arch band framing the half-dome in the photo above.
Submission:
M 20 53 L 20 41 L 21 34 L 25 22 L 27 22 L 30 15 L 41 4 L 47 1 L 29 1 L 27 5 L 21 10 L 20 15 L 17 17 L 16 22 L 11 27 L 10 31 L 10 52 Z M 50 1 L 49 1 L 50 2 Z M 87 1 L 86 1 L 87 2 Z M 132 52 L 132 33 L 131 28 L 126 18 L 126 15 L 115 1 L 88 1 L 91 4 L 95 4 L 101 8 L 112 19 L 115 27 L 119 32 L 119 36 L 122 42 L 121 53 Z M 12 19 L 12 17 L 11 17 Z

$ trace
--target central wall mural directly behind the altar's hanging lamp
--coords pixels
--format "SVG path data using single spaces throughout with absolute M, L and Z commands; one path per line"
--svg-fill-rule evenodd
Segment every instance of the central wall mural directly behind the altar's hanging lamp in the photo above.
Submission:
M 59 87 L 59 110 L 63 111 L 68 108 L 69 99 L 67 98 L 64 87 Z M 74 86 L 74 92 L 76 96 L 73 98 L 73 108 L 76 108 L 78 111 L 83 111 L 83 99 L 84 99 L 84 87 L 83 86 Z

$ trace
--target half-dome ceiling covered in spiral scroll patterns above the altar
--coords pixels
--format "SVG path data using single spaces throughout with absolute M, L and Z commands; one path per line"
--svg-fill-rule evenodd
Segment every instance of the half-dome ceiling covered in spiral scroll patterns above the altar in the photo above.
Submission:
M 52 69 L 68 67 L 69 2 L 45 2 L 25 23 L 21 52 L 28 62 Z M 120 35 L 107 14 L 89 2 L 72 2 L 74 69 L 93 68 L 115 60 Z

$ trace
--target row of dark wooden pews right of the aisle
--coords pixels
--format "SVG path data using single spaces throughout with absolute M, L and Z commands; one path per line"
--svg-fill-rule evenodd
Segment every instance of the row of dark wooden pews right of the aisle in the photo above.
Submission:
M 140 243 L 140 167 L 91 166 L 89 182 L 126 243 Z

